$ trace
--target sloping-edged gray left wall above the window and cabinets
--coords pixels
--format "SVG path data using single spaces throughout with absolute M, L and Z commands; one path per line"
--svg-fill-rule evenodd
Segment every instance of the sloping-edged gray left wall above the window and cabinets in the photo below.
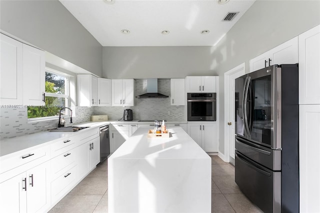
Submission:
M 0 0 L 0 29 L 102 75 L 102 46 L 58 0 Z

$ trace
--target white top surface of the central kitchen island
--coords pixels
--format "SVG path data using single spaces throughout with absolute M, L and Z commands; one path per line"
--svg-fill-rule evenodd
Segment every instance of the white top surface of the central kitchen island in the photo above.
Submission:
M 148 127 L 138 128 L 109 156 L 114 158 L 209 158 L 209 155 L 181 128 L 168 128 L 170 137 L 148 137 Z

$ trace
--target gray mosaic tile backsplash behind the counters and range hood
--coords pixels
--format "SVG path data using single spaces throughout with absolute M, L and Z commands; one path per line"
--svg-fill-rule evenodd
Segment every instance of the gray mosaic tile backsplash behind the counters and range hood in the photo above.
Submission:
M 146 93 L 146 79 L 135 80 L 134 95 Z M 170 96 L 170 79 L 158 79 L 158 92 Z M 170 98 L 135 98 L 134 106 L 76 106 L 73 125 L 90 121 L 91 115 L 107 114 L 109 120 L 118 120 L 123 116 L 123 109 L 131 108 L 133 119 L 185 120 L 186 106 L 171 106 Z M 170 114 L 168 115 L 168 111 Z M 69 125 L 69 118 L 66 118 Z M 71 124 L 70 124 L 71 125 Z M 0 108 L 0 139 L 22 136 L 57 126 L 57 120 L 27 122 L 26 108 Z

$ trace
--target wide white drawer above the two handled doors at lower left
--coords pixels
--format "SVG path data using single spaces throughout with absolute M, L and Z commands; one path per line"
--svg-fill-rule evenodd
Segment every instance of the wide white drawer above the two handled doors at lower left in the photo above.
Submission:
M 41 148 L 21 150 L 0 158 L 0 173 L 8 171 L 19 166 L 21 169 L 28 169 L 49 159 L 50 148 L 43 146 Z M 20 170 L 21 170 L 20 169 Z

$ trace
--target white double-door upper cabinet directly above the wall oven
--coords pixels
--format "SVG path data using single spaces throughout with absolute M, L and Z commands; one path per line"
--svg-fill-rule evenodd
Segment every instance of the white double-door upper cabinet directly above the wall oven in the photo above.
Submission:
M 215 92 L 215 76 L 186 76 L 186 92 Z

